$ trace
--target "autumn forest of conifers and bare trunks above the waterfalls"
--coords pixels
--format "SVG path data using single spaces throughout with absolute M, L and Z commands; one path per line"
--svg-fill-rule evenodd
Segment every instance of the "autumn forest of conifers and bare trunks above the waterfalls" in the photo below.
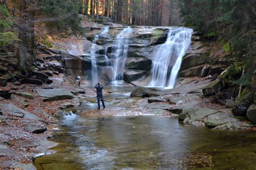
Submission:
M 255 56 L 255 2 L 241 0 L 97 0 L 97 1 L 2 1 L 1 51 L 15 46 L 21 66 L 31 62 L 40 25 L 47 29 L 82 33 L 79 14 L 109 17 L 127 25 L 170 26 L 172 15 L 181 15 L 185 26 L 193 27 L 206 39 L 217 39 L 232 52 L 235 71 L 246 69 L 239 84 L 248 84 Z M 177 19 L 176 18 L 176 19 Z M 175 19 L 175 18 L 174 18 Z M 181 23 L 182 23 L 181 22 Z M 69 23 L 66 25 L 66 23 Z M 180 24 L 180 23 L 179 23 Z M 35 36 L 35 28 L 38 29 Z M 80 32 L 79 32 L 80 31 Z M 248 77 L 249 76 L 249 77 Z

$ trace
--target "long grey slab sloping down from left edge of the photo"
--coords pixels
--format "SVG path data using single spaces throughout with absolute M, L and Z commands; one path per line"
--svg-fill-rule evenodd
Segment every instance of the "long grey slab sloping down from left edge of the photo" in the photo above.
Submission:
M 8 103 L 0 103 L 0 109 L 2 109 L 4 115 L 9 115 L 9 116 L 16 116 L 16 117 L 23 117 L 23 118 L 28 118 L 28 119 L 34 119 L 37 121 L 42 121 L 42 118 L 31 114 L 28 111 L 25 111 L 23 109 L 19 109 L 16 107 L 14 104 Z

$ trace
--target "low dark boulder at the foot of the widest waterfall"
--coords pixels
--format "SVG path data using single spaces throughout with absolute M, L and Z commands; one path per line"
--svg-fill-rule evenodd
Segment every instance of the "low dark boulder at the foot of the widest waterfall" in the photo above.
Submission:
M 131 93 L 131 97 L 153 97 L 153 96 L 159 96 L 157 94 L 157 89 L 153 88 L 144 88 L 144 87 L 138 87 L 137 89 L 133 90 Z

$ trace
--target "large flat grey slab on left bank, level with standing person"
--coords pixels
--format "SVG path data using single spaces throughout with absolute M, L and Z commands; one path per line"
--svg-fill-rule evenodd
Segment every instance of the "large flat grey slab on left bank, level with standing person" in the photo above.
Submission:
M 46 97 L 44 99 L 44 102 L 46 101 L 56 101 L 56 100 L 62 100 L 66 98 L 73 98 L 73 94 L 66 89 L 42 89 L 38 88 L 36 89 L 36 92 L 41 97 Z

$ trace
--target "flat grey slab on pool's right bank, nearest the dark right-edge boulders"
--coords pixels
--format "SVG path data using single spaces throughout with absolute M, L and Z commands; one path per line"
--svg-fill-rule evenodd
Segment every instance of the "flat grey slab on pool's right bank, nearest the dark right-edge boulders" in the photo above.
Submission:
M 207 117 L 207 121 L 205 121 L 205 125 L 209 128 L 215 128 L 216 126 L 226 124 L 229 122 L 238 122 L 239 119 L 235 118 L 231 113 L 217 113 Z

